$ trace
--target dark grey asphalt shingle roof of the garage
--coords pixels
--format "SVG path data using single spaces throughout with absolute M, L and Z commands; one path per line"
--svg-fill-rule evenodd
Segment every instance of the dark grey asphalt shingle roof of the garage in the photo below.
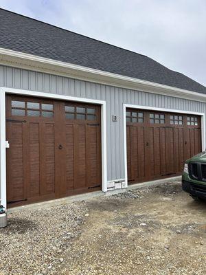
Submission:
M 152 58 L 1 8 L 0 47 L 206 94 L 206 87 Z

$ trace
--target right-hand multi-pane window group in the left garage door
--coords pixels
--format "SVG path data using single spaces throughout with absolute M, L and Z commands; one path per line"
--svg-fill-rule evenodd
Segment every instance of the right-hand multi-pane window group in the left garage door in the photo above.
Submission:
M 96 120 L 95 108 L 65 106 L 65 115 L 69 120 Z

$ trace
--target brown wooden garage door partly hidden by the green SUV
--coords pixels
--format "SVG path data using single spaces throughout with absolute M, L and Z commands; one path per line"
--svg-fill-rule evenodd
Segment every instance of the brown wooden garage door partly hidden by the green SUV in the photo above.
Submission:
M 180 175 L 186 159 L 201 152 L 201 117 L 126 110 L 130 184 Z

